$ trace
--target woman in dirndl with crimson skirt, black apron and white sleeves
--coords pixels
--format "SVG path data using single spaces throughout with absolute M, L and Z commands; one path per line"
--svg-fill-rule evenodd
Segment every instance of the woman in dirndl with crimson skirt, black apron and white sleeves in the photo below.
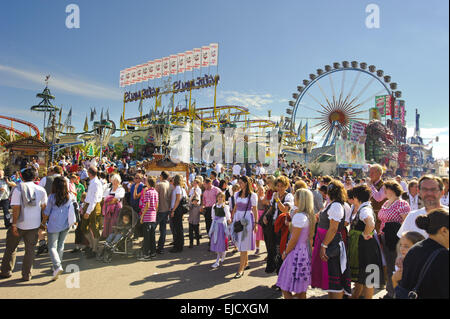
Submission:
M 311 287 L 328 292 L 330 299 L 351 296 L 350 270 L 341 231 L 345 227 L 344 185 L 332 180 L 327 188 L 331 203 L 320 213 L 312 255 Z

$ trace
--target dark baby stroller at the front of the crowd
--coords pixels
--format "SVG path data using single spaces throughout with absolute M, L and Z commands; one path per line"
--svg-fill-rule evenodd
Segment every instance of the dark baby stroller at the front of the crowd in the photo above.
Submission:
M 129 223 L 125 224 L 124 219 Z M 128 257 L 133 252 L 133 234 L 139 216 L 131 206 L 123 206 L 119 212 L 117 226 L 113 226 L 113 233 L 108 236 L 103 248 L 97 252 L 97 260 L 105 263 L 112 261 L 114 254 Z

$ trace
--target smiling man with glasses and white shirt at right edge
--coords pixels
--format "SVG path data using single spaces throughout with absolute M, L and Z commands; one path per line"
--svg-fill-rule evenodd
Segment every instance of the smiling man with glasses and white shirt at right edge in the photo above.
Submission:
M 425 205 L 424 208 L 412 211 L 406 216 L 405 221 L 400 227 L 397 236 L 402 237 L 403 233 L 409 231 L 415 231 L 425 238 L 428 238 L 426 231 L 420 229 L 416 225 L 416 218 L 419 215 L 428 215 L 433 209 L 436 208 L 447 208 L 441 205 L 441 197 L 444 193 L 444 184 L 439 177 L 433 175 L 422 176 L 419 180 L 419 195 L 423 199 Z

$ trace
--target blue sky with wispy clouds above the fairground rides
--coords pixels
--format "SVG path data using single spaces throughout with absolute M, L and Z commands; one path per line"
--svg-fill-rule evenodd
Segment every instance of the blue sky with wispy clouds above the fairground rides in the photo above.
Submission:
M 80 8 L 80 29 L 65 26 L 71 3 Z M 379 29 L 365 25 L 370 3 L 380 8 Z M 2 1 L 0 114 L 42 127 L 29 108 L 51 74 L 55 104 L 64 113 L 73 107 L 75 126 L 90 107 L 109 107 L 118 121 L 120 70 L 218 42 L 218 105 L 285 115 L 297 85 L 316 69 L 367 62 L 398 83 L 407 126 L 418 108 L 422 135 L 439 135 L 435 155 L 448 157 L 448 9 L 442 0 Z M 198 92 L 198 104 L 210 106 L 211 93 Z M 127 117 L 136 114 L 130 104 Z

